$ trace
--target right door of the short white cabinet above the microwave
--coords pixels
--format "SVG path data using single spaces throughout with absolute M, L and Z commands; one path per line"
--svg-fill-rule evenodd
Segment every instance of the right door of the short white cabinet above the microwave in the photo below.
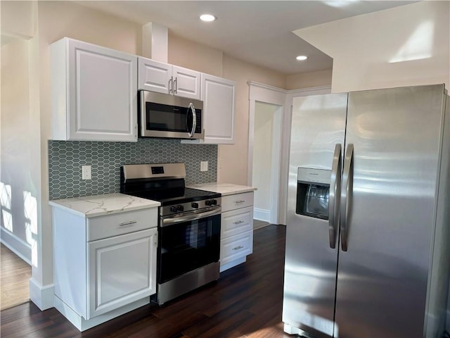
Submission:
M 172 66 L 174 95 L 200 100 L 200 73 L 195 70 Z

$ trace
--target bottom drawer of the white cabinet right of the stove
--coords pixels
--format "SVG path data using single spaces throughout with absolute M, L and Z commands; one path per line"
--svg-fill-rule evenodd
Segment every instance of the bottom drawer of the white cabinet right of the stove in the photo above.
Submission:
M 221 240 L 220 264 L 224 265 L 253 252 L 253 230 Z

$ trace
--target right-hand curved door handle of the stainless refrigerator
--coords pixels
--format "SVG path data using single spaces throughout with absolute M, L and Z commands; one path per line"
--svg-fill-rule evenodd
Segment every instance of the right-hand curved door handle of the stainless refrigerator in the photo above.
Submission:
M 352 210 L 353 192 L 353 144 L 347 146 L 344 161 L 344 173 L 342 175 L 342 187 L 340 195 L 340 244 L 342 251 L 347 251 L 347 236 L 349 227 L 349 214 Z

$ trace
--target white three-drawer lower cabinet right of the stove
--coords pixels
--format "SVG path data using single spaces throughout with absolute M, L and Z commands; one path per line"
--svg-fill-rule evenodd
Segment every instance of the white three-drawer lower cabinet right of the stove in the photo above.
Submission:
M 222 196 L 220 271 L 253 252 L 253 192 Z

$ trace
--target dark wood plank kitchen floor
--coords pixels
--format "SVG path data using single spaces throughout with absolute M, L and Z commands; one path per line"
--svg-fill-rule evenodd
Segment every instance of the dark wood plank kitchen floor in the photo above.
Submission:
M 143 306 L 80 333 L 56 309 L 33 303 L 1 311 L 1 337 L 290 337 L 283 333 L 285 227 L 255 230 L 247 262 L 165 306 Z

